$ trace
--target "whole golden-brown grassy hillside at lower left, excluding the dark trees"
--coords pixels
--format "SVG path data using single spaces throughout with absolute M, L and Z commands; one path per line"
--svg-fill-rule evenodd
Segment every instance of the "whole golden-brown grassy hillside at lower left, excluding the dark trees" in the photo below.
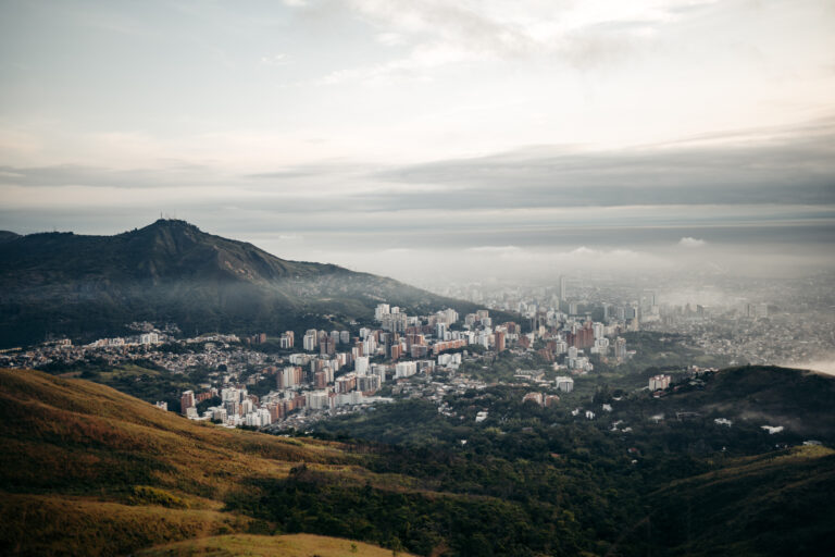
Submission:
M 0 370 L 0 421 L 3 554 L 119 555 L 246 532 L 251 519 L 223 511 L 224 502 L 257 497 L 263 480 L 301 462 L 331 482 L 410 487 L 410 479 L 364 470 L 338 443 L 196 423 L 103 385 L 30 370 Z M 303 552 L 317 539 L 283 540 L 282 555 L 311 555 Z M 350 550 L 351 542 L 326 540 L 331 553 L 321 555 Z M 301 553 L 286 553 L 297 546 Z M 360 555 L 377 555 L 362 547 Z

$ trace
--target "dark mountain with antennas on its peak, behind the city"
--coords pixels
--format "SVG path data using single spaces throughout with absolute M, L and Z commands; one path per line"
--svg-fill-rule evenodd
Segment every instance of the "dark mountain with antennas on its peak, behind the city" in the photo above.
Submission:
M 283 260 L 177 220 L 115 236 L 0 235 L 0 347 L 88 339 L 133 321 L 173 322 L 187 334 L 300 332 L 369 320 L 381 301 L 412 312 L 476 309 L 391 278 Z

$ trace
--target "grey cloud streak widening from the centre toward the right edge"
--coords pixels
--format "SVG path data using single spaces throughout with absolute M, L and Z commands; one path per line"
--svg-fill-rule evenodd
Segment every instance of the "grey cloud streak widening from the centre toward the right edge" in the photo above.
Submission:
M 613 151 L 524 147 L 377 177 L 454 186 L 444 202 L 471 207 L 835 203 L 835 121 L 751 134 Z

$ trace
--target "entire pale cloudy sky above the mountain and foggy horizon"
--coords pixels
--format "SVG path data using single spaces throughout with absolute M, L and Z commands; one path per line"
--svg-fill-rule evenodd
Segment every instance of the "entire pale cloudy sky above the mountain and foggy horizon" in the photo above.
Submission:
M 418 282 L 835 267 L 828 0 L 0 0 L 0 230 Z

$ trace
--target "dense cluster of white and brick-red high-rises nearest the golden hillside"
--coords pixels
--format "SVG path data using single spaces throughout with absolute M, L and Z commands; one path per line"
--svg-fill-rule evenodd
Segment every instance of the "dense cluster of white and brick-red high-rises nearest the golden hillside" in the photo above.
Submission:
M 180 398 L 180 411 L 192 419 L 227 426 L 263 428 L 298 413 L 296 410 L 304 414 L 334 412 L 385 403 L 389 398 L 376 394 L 386 383 L 397 384 L 415 375 L 431 377 L 437 372 L 452 375 L 462 364 L 468 346 L 502 351 L 508 342 L 519 337 L 516 323 L 493 326 L 487 310 L 466 315 L 460 324 L 452 309 L 419 317 L 381 304 L 375 320 L 378 327 L 364 326 L 356 334 L 345 330 L 306 331 L 302 351 L 283 357 L 281 364 L 261 369 L 261 375 L 275 377 L 275 388 L 265 396 L 248 394 L 244 385 L 228 385 L 221 391 L 213 387 L 199 394 L 189 391 Z M 256 335 L 248 341 L 262 344 L 266 338 Z M 279 342 L 283 348 L 296 348 L 290 331 L 283 333 Z M 197 405 L 202 400 L 219 396 L 220 405 L 198 412 Z

